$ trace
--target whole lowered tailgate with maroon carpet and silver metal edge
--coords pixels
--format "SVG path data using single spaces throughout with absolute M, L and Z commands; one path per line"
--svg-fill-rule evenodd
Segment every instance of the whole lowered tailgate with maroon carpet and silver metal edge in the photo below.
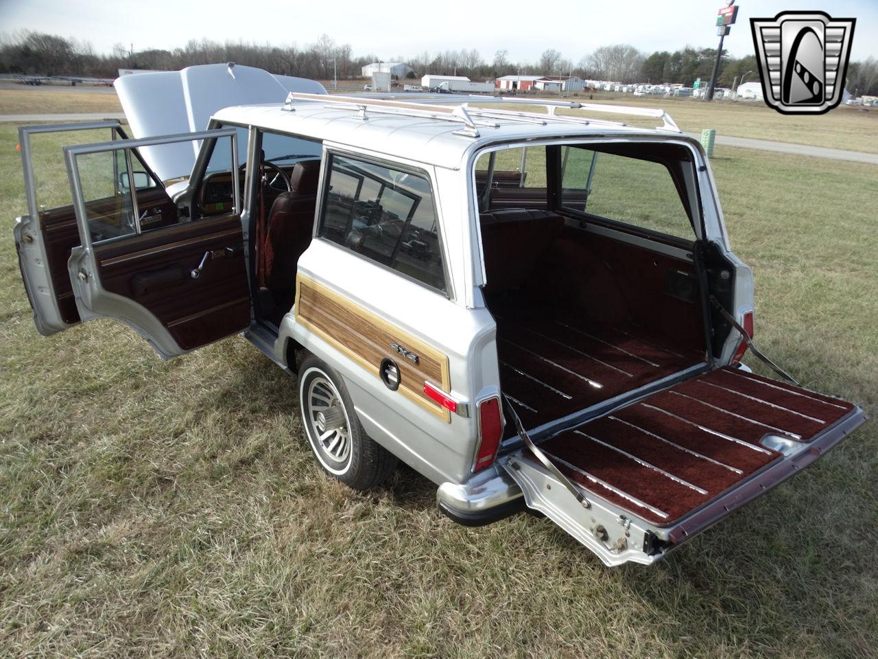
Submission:
M 585 504 L 527 448 L 502 464 L 531 508 L 608 565 L 651 563 L 865 419 L 853 403 L 723 367 L 543 439 L 539 450 Z

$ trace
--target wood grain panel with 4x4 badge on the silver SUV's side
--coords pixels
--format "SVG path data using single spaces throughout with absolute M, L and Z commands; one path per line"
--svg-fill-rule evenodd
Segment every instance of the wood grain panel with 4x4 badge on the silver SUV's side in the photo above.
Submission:
M 310 279 L 297 279 L 294 313 L 297 322 L 327 339 L 376 377 L 381 360 L 391 358 L 399 366 L 399 392 L 450 422 L 449 411 L 423 391 L 425 381 L 443 391 L 450 390 L 448 357 L 442 352 Z M 414 352 L 418 363 L 399 355 L 391 344 Z

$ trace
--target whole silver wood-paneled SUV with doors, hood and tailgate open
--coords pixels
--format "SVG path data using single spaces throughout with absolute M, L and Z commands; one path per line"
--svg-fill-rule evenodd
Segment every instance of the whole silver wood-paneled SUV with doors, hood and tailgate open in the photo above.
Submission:
M 23 128 L 40 332 L 114 317 L 169 358 L 243 331 L 298 374 L 328 474 L 368 489 L 403 460 L 450 518 L 527 506 L 608 565 L 658 560 L 864 421 L 741 365 L 751 271 L 665 112 L 315 84 L 142 74 L 117 82 L 139 139 Z M 72 205 L 34 174 L 54 130 L 119 138 L 63 149 Z

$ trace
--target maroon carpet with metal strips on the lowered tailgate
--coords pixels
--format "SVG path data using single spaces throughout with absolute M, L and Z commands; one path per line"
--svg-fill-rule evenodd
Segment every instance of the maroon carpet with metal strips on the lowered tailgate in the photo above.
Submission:
M 539 447 L 581 487 L 669 525 L 781 458 L 766 435 L 807 442 L 853 409 L 724 367 L 548 438 Z

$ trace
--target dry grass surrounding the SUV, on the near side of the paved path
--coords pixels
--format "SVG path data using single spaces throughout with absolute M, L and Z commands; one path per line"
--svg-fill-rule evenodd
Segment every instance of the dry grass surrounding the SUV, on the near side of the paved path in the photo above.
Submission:
M 14 144 L 0 126 L 0 655 L 874 656 L 874 423 L 652 568 L 545 519 L 454 525 L 406 468 L 359 495 L 242 338 L 162 362 L 115 322 L 37 334 Z M 761 348 L 874 416 L 875 168 L 716 153 Z

